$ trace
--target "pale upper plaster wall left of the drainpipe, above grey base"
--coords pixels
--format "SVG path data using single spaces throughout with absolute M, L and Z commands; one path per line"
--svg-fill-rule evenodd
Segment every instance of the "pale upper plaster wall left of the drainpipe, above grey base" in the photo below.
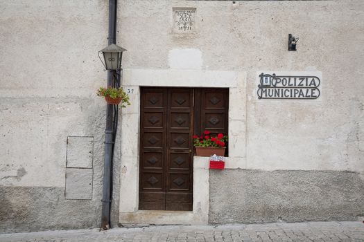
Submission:
M 0 12 L 0 185 L 64 187 L 67 136 L 94 136 L 102 157 L 107 1 L 1 1 Z

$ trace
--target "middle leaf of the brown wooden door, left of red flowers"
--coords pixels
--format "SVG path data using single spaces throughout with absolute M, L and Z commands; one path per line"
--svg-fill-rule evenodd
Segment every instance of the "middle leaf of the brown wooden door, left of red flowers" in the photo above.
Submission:
M 193 89 L 169 89 L 168 97 L 166 210 L 192 210 Z

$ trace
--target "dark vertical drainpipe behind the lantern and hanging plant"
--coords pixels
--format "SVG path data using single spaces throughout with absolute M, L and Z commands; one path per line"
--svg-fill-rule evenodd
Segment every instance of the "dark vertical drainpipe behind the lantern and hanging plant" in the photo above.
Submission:
M 116 44 L 116 8 L 117 0 L 109 0 L 109 37 L 108 44 Z M 107 86 L 114 86 L 116 71 L 107 71 Z M 116 114 L 116 113 L 115 113 Z M 101 230 L 110 227 L 111 187 L 112 187 L 112 156 L 114 151 L 114 107 L 107 104 L 105 127 L 105 163 L 103 175 L 103 210 L 101 215 Z

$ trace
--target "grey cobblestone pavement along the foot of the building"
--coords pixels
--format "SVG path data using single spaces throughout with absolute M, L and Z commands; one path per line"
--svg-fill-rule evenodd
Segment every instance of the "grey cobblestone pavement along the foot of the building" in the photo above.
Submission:
M 0 234 L 0 241 L 364 241 L 364 223 L 118 227 L 103 232 L 94 229 Z

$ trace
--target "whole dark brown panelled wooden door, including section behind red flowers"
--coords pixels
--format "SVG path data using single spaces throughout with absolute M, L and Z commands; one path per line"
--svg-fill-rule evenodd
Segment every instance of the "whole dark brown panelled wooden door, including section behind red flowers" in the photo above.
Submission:
M 192 210 L 192 136 L 226 133 L 227 102 L 227 89 L 141 88 L 139 210 Z

